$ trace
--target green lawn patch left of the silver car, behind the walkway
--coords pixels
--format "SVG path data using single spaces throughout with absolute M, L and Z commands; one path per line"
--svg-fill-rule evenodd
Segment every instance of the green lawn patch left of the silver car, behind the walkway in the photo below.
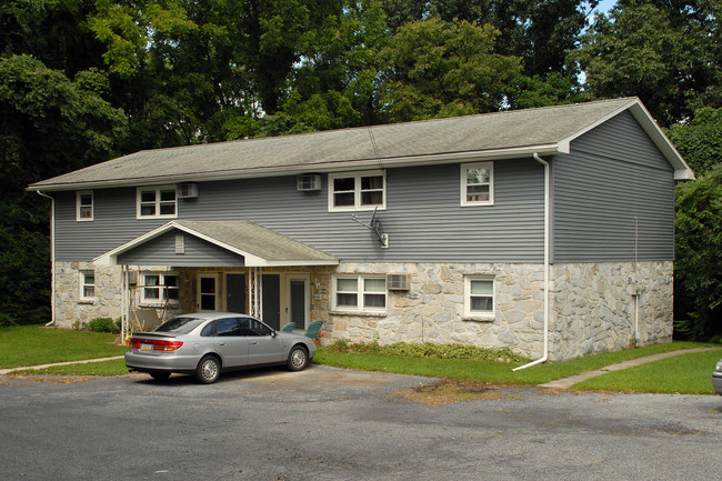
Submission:
M 116 334 L 42 325 L 0 328 L 0 369 L 122 355 Z

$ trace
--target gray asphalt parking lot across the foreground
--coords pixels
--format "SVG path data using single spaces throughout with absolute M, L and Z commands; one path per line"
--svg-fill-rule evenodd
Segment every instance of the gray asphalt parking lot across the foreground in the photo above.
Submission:
M 0 377 L 0 479 L 720 479 L 722 397 L 405 397 L 433 382 L 321 365 L 211 385 Z

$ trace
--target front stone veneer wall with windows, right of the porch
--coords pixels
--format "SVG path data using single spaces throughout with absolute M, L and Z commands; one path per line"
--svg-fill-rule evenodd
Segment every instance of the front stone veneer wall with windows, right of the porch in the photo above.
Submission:
M 541 352 L 543 265 L 520 263 L 343 263 L 334 273 L 409 273 L 411 290 L 389 291 L 385 314 L 330 311 L 324 343 L 338 339 L 393 342 L 459 342 Z M 495 315 L 464 315 L 464 277 L 493 275 Z M 328 293 L 327 293 L 328 295 Z M 323 318 L 321 318 L 323 319 Z

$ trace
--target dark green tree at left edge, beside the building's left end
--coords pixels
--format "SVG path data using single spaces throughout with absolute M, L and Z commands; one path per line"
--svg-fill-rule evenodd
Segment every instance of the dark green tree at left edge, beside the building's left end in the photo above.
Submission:
M 106 159 L 126 117 L 96 71 L 64 72 L 29 56 L 0 58 L 0 325 L 47 322 L 49 202 L 24 188 Z

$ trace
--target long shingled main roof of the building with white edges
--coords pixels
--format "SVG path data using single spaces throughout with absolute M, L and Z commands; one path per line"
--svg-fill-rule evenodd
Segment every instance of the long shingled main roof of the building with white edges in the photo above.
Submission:
M 636 98 L 525 109 L 419 122 L 331 130 L 170 149 L 144 150 L 33 183 L 70 190 L 221 179 L 279 172 L 329 172 L 464 159 L 569 153 L 570 142 L 630 110 L 675 170 L 694 176 Z M 199 161 L 199 160 L 202 160 Z

